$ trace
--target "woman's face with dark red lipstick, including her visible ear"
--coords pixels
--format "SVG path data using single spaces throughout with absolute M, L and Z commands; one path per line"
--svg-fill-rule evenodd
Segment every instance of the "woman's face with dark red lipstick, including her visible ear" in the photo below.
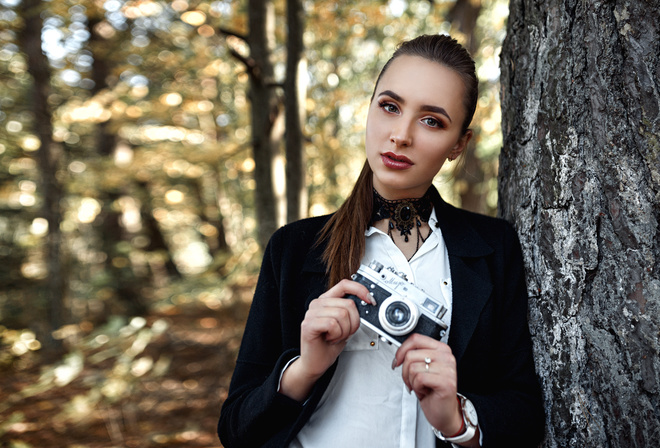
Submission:
M 367 160 L 387 199 L 421 197 L 448 157 L 466 147 L 465 86 L 460 76 L 418 56 L 392 61 L 367 116 Z

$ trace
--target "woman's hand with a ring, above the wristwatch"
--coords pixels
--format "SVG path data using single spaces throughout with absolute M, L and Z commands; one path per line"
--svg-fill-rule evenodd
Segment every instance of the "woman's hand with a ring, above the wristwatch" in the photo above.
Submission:
M 456 434 L 463 415 L 456 398 L 456 358 L 451 348 L 415 333 L 396 352 L 392 368 L 400 365 L 403 381 L 417 395 L 429 423 L 443 434 Z

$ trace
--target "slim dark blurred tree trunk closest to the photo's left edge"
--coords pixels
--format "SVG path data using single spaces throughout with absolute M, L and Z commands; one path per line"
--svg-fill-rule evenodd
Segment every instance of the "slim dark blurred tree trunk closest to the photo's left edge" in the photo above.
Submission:
M 62 343 L 52 337 L 52 331 L 64 324 L 64 294 L 66 289 L 65 269 L 62 263 L 62 185 L 58 179 L 61 150 L 57 151 L 53 142 L 53 125 L 48 106 L 50 95 L 50 68 L 41 50 L 42 2 L 24 0 L 20 6 L 23 29 L 19 40 L 27 58 L 28 72 L 33 79 L 31 109 L 34 114 L 34 132 L 41 141 L 37 153 L 37 165 L 41 176 L 42 213 L 48 221 L 48 234 L 45 237 L 46 266 L 48 270 L 43 294 L 46 298 L 49 330 L 44 338 L 44 348 L 53 354 L 62 350 Z

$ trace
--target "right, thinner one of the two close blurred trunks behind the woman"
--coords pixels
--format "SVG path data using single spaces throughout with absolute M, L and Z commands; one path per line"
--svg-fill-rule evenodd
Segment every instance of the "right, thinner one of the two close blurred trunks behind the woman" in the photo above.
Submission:
M 305 113 L 304 14 L 302 0 L 287 0 L 287 45 L 285 92 L 287 221 L 307 216 L 305 151 L 302 124 Z

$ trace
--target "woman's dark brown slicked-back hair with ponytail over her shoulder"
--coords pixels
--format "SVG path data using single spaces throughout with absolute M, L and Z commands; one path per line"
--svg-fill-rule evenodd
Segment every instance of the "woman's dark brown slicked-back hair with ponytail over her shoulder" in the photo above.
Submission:
M 463 105 L 465 120 L 463 134 L 468 131 L 477 106 L 479 84 L 474 61 L 455 39 L 447 35 L 424 35 L 399 45 L 381 70 L 376 85 L 392 61 L 399 56 L 419 56 L 454 70 L 465 85 Z M 373 101 L 373 95 L 371 97 Z M 373 171 L 365 162 L 355 182 L 353 191 L 337 212 L 321 230 L 319 241 L 326 241 L 323 261 L 329 276 L 328 286 L 333 286 L 357 271 L 366 244 L 364 232 L 369 228 L 373 209 Z

